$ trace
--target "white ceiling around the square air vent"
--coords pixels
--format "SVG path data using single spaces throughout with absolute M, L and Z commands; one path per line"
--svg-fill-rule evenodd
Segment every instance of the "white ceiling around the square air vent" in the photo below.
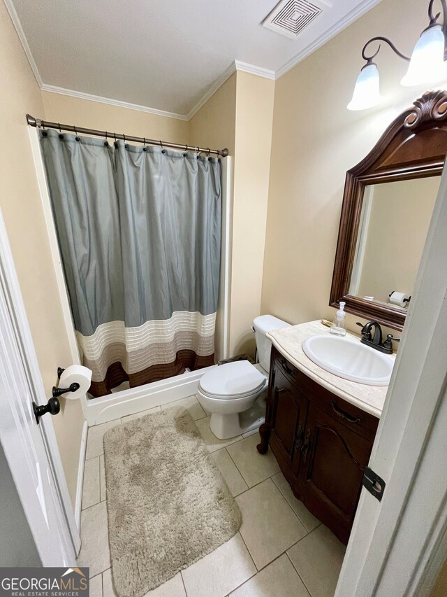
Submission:
M 297 0 L 298 1 L 298 0 Z M 42 89 L 191 118 L 238 68 L 277 78 L 380 0 L 312 0 L 298 38 L 262 27 L 277 0 L 6 0 Z

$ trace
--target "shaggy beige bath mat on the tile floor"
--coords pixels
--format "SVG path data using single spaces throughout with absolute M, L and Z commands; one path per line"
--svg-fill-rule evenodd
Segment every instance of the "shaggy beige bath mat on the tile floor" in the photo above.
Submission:
M 186 409 L 108 430 L 104 458 L 117 596 L 145 595 L 239 530 L 239 507 Z

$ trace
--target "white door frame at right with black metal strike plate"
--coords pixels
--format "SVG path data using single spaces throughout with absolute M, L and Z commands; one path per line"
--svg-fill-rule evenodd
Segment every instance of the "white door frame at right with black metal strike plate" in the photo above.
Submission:
M 427 595 L 447 555 L 447 165 L 369 467 L 383 500 L 362 489 L 335 596 Z

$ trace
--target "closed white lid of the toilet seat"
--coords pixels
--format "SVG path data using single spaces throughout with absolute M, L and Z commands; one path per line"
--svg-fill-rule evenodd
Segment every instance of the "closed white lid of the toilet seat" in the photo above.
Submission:
M 236 360 L 205 373 L 199 387 L 203 393 L 219 398 L 242 398 L 261 390 L 265 382 L 265 376 L 248 360 Z

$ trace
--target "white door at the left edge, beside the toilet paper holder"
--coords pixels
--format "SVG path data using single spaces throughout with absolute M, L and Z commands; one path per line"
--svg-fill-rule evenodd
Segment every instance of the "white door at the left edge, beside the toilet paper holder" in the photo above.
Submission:
M 34 391 L 17 334 L 24 322 L 17 321 L 11 300 L 6 246 L 0 214 L 0 442 L 43 566 L 73 566 L 73 541 L 32 407 Z

